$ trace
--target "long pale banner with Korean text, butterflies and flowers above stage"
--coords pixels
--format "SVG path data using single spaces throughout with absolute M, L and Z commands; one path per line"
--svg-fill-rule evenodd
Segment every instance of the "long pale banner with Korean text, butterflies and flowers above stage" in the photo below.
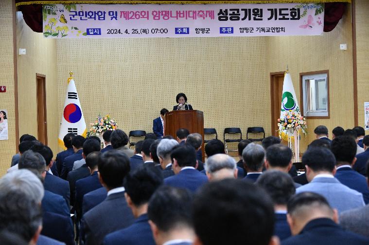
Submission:
M 45 4 L 47 38 L 322 35 L 324 3 Z

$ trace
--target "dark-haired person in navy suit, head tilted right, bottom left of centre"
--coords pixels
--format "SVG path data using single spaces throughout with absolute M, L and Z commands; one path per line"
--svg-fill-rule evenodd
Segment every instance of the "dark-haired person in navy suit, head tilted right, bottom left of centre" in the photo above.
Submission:
M 104 245 L 155 245 L 148 222 L 147 207 L 150 197 L 162 182 L 159 170 L 152 166 L 141 166 L 127 175 L 124 185 L 125 199 L 136 221 L 127 228 L 107 235 Z

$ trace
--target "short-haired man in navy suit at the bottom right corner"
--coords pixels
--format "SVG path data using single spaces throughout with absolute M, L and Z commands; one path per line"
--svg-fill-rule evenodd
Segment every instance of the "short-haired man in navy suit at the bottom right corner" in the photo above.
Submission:
M 342 229 L 338 223 L 337 210 L 316 193 L 304 192 L 292 197 L 287 204 L 287 220 L 292 237 L 282 245 L 364 245 L 369 240 Z

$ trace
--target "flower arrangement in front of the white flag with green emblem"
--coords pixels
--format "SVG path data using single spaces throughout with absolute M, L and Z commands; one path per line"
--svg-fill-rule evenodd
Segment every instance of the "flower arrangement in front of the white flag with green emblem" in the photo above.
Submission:
M 279 132 L 285 133 L 288 136 L 292 136 L 295 131 L 301 130 L 301 132 L 306 136 L 307 126 L 306 119 L 301 116 L 298 112 L 288 110 L 283 114 L 283 118 L 278 119 Z

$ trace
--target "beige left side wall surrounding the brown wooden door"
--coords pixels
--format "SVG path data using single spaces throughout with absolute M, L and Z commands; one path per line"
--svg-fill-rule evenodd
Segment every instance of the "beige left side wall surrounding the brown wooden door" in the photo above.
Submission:
M 31 134 L 37 138 L 37 87 L 36 73 L 46 76 L 46 110 L 48 145 L 54 157 L 59 152 L 58 90 L 56 75 L 56 40 L 46 39 L 35 33 L 17 12 L 17 49 L 26 49 L 26 55 L 18 55 L 18 108 L 19 137 Z

